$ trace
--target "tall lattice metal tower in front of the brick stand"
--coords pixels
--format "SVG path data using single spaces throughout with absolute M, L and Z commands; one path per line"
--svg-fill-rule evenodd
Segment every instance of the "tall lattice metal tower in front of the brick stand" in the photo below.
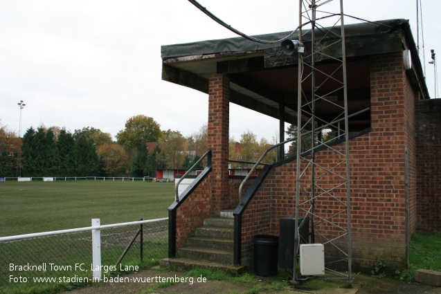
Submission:
M 330 12 L 336 10 L 336 12 Z M 343 0 L 299 0 L 299 41 L 311 48 L 298 54 L 298 140 L 296 165 L 296 230 L 291 284 L 298 284 L 299 228 L 303 217 L 312 220 L 311 241 L 325 245 L 326 273 L 352 284 L 348 92 Z M 332 49 L 332 50 L 331 50 Z M 320 65 L 327 59 L 327 66 Z M 317 105 L 335 115 L 317 114 Z M 323 139 L 323 130 L 336 137 Z M 338 143 L 338 141 L 341 143 Z M 316 160 L 325 148 L 332 167 Z M 323 151 L 321 151 L 323 152 Z M 330 258 L 332 255 L 332 258 Z M 336 258 L 335 258 L 336 257 Z M 348 264 L 348 273 L 334 270 Z

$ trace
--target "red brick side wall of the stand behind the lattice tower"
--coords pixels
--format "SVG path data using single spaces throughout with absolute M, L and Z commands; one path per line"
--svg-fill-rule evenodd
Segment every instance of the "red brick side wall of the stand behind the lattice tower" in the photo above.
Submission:
M 405 148 L 409 153 L 410 233 L 415 228 L 415 128 L 413 111 L 415 94 L 403 68 L 402 53 L 376 55 L 371 58 L 371 117 L 372 131 L 350 141 L 350 184 L 352 260 L 354 264 L 371 268 L 384 259 L 389 268 L 406 266 L 406 185 Z M 336 145 L 343 149 L 344 145 Z M 342 158 L 326 149 L 316 154 L 316 163 L 332 167 Z M 320 174 L 323 170 L 316 170 Z M 341 165 L 337 174 L 345 174 Z M 303 186 L 310 190 L 310 179 L 303 177 Z M 311 172 L 309 172 L 310 176 Z M 321 186 L 332 187 L 341 180 L 336 176 L 321 179 Z M 252 246 L 256 233 L 278 235 L 279 220 L 295 214 L 296 162 L 276 167 L 271 172 L 243 216 L 242 252 Z M 318 192 L 318 191 L 316 191 Z M 345 188 L 333 191 L 345 201 Z M 268 208 L 271 203 L 271 210 Z M 330 196 L 321 196 L 316 212 L 331 217 L 344 208 Z M 347 216 L 339 214 L 332 222 L 346 227 Z M 253 225 L 255 224 L 255 225 Z M 326 223 L 320 231 L 327 238 L 336 230 Z M 341 232 L 338 232 L 341 235 Z M 323 241 L 316 237 L 316 241 Z M 339 242 L 340 241 L 340 242 Z M 344 248 L 345 238 L 336 241 Z M 329 246 L 328 246 L 329 247 Z M 330 252 L 330 250 L 328 250 Z

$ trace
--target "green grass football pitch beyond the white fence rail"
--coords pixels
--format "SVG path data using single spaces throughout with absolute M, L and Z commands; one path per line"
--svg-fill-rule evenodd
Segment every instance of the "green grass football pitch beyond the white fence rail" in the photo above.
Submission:
M 168 217 L 174 183 L 55 181 L 0 183 L 0 237 Z

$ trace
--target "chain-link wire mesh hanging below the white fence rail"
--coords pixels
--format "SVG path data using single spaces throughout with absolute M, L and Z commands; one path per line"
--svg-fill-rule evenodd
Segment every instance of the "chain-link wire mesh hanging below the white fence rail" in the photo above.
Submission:
M 103 228 L 100 233 L 103 276 L 153 266 L 168 256 L 167 219 Z M 95 282 L 91 230 L 1 239 L 6 238 L 0 238 L 0 293 L 57 293 Z

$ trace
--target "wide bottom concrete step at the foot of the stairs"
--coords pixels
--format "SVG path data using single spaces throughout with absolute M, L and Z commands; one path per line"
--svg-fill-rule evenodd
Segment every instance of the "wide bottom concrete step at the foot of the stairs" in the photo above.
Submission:
M 201 261 L 195 259 L 187 258 L 165 258 L 159 261 L 161 268 L 172 268 L 177 270 L 191 270 L 192 268 L 213 268 L 221 269 L 226 273 L 231 273 L 233 275 L 240 275 L 244 273 L 244 266 L 232 266 L 230 264 L 219 264 L 216 262 Z

